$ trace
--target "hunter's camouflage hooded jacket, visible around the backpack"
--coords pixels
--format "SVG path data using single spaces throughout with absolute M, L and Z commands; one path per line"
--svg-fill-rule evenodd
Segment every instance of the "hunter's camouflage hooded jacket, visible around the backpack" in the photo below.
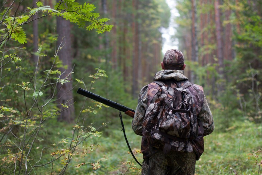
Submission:
M 160 81 L 168 84 L 173 88 L 181 87 L 188 83 L 188 78 L 184 75 L 182 70 L 161 70 L 154 76 L 154 81 Z M 153 87 L 153 88 L 152 88 Z M 150 146 L 150 133 L 145 130 L 145 114 L 150 104 L 151 99 L 156 94 L 155 83 L 150 83 L 141 89 L 138 98 L 138 105 L 135 116 L 132 121 L 132 128 L 137 135 L 142 135 L 141 152 L 143 158 L 146 159 L 157 152 L 161 152 L 161 148 Z M 190 94 L 194 96 L 194 115 L 201 120 L 204 129 L 204 136 L 211 134 L 214 130 L 214 121 L 210 108 L 207 104 L 207 99 L 203 93 L 203 88 L 199 85 L 192 85 L 188 88 Z M 195 152 L 197 160 L 204 151 L 203 137 L 198 137 L 192 140 L 186 147 L 186 152 Z

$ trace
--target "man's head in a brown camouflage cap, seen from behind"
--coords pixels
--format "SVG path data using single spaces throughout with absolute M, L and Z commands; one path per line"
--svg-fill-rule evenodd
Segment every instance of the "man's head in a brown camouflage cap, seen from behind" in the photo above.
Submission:
M 183 53 L 180 50 L 171 49 L 166 51 L 161 66 L 162 69 L 184 70 L 186 67 L 184 62 Z

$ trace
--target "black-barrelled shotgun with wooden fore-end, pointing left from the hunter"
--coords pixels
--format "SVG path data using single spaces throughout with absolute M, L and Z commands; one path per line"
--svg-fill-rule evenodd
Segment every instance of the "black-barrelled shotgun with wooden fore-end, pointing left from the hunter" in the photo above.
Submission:
M 135 110 L 133 109 L 130 109 L 126 106 L 123 106 L 119 103 L 116 103 L 116 102 L 113 102 L 111 100 L 108 100 L 104 97 L 101 97 L 99 95 L 96 95 L 92 92 L 89 92 L 87 90 L 84 90 L 82 88 L 78 88 L 77 92 L 78 94 L 81 94 L 81 95 L 84 95 L 85 97 L 88 97 L 88 98 L 91 98 L 93 100 L 96 100 L 97 102 L 100 102 L 100 103 L 103 103 L 107 106 L 110 106 L 110 107 L 113 107 L 119 111 L 122 111 L 122 112 L 125 112 L 126 115 L 129 115 L 130 117 L 134 118 L 134 115 L 135 115 Z

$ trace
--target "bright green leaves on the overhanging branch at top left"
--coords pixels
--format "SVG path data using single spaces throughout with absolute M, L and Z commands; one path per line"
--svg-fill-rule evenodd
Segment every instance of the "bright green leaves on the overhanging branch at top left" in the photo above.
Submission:
M 96 7 L 90 3 L 85 2 L 82 5 L 78 2 L 75 2 L 75 0 L 61 0 L 57 2 L 54 6 L 54 9 L 52 9 L 50 6 L 43 6 L 43 2 L 38 1 L 36 6 L 36 8 L 27 7 L 26 11 L 28 15 L 0 15 L 1 19 L 3 16 L 2 23 L 5 24 L 6 27 L 2 29 L 3 34 L 0 35 L 3 38 L 3 40 L 0 42 L 0 48 L 6 41 L 10 39 L 14 39 L 20 44 L 27 43 L 27 36 L 22 26 L 32 22 L 33 20 L 36 20 L 31 18 L 35 15 L 38 15 L 39 13 L 42 13 L 42 17 L 48 15 L 62 17 L 72 23 L 76 23 L 79 27 L 84 28 L 87 26 L 87 30 L 95 29 L 97 33 L 110 31 L 112 27 L 114 27 L 113 25 L 105 24 L 105 22 L 109 20 L 108 18 L 98 19 L 100 15 L 99 13 L 92 12 Z M 5 31 L 7 31 L 7 33 L 5 33 Z

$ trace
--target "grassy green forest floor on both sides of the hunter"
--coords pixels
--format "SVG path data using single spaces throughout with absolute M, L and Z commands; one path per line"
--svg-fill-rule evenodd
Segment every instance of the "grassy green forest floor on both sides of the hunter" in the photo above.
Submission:
M 84 143 L 85 146 L 99 145 L 96 150 L 85 157 L 76 157 L 71 162 L 71 166 L 82 162 L 95 162 L 105 156 L 107 160 L 100 162 L 101 167 L 92 170 L 92 166 L 81 166 L 68 169 L 66 174 L 141 174 L 141 167 L 129 154 L 119 119 L 114 120 L 103 129 L 100 137 L 92 137 Z M 140 149 L 141 136 L 134 134 L 129 118 L 125 118 L 124 123 L 131 148 L 133 151 Z M 56 128 L 58 129 L 53 127 L 53 133 L 59 132 L 60 127 Z M 262 167 L 259 166 L 262 161 L 261 138 L 262 126 L 248 121 L 234 123 L 234 127 L 227 128 L 226 132 L 215 129 L 204 138 L 205 151 L 196 162 L 195 174 L 262 175 Z M 138 153 L 136 157 L 142 163 L 142 154 Z M 59 162 L 55 163 L 55 172 L 62 167 Z M 55 172 L 53 174 L 56 174 Z

